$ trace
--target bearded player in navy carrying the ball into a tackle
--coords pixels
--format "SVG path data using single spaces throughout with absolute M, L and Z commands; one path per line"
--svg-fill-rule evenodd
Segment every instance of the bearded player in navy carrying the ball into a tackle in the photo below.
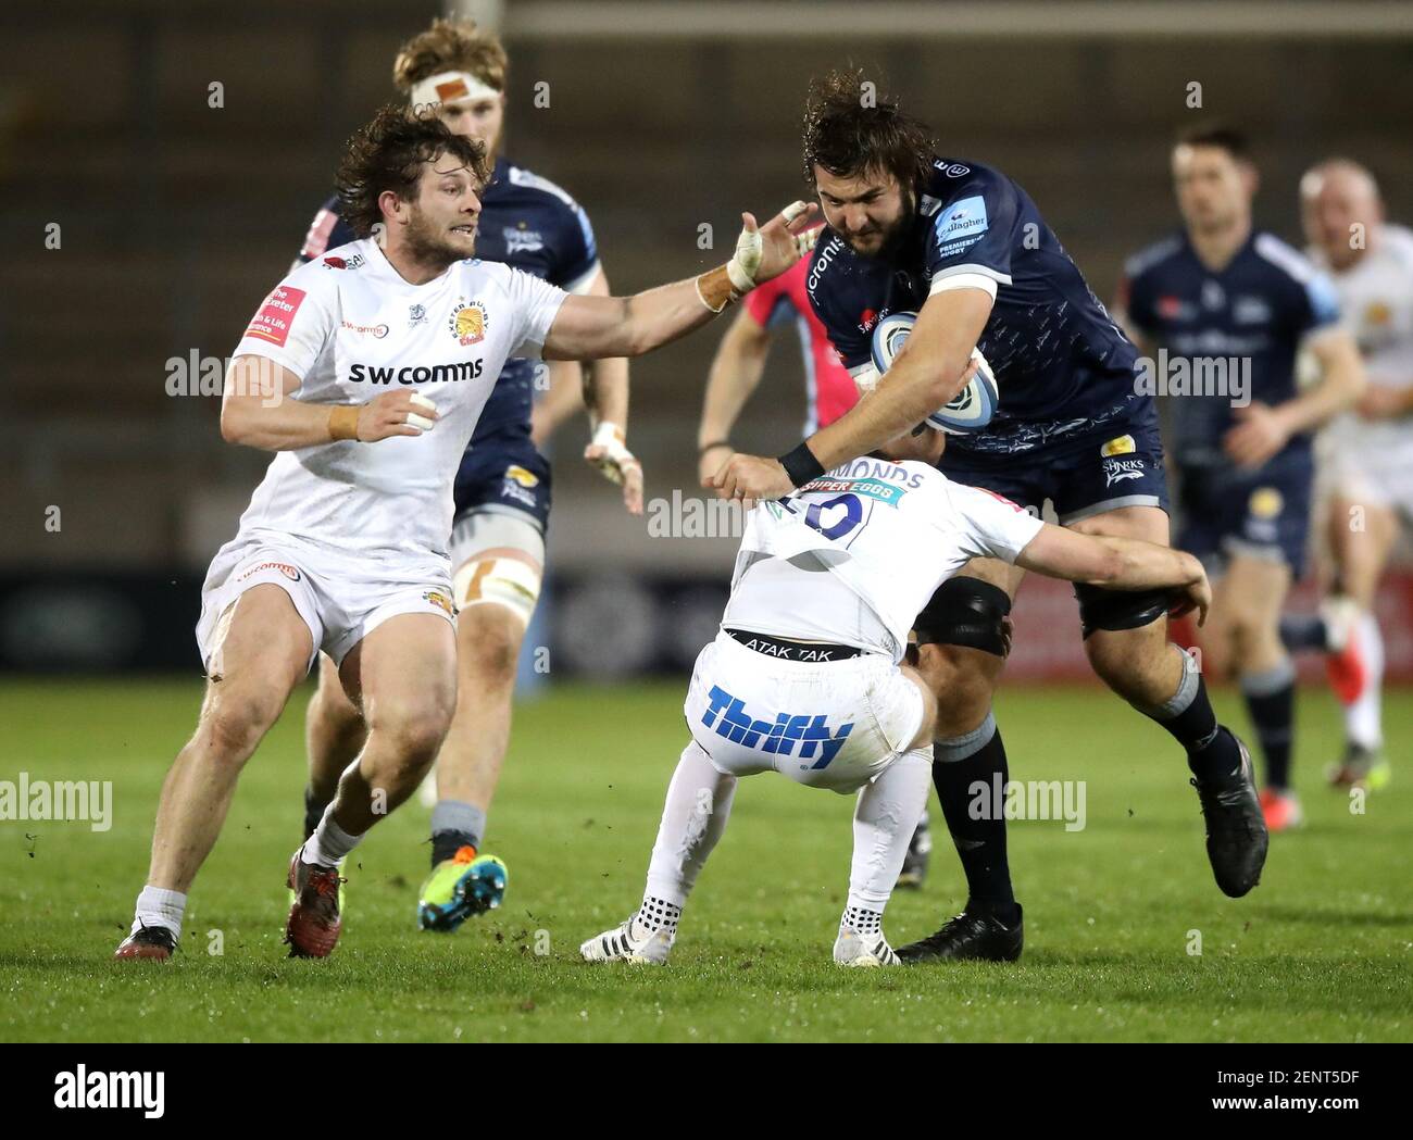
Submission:
M 985 487 L 1084 534 L 1167 544 L 1157 412 L 1136 387 L 1136 350 L 1109 319 L 1029 195 L 998 170 L 941 157 L 894 102 L 832 73 L 811 85 L 804 174 L 828 223 L 810 299 L 845 366 L 873 396 L 780 459 L 735 455 L 711 480 L 722 494 L 776 499 L 865 455 L 947 404 L 979 348 L 996 376 L 989 427 L 954 435 L 950 479 Z M 873 97 L 866 97 L 873 96 Z M 917 322 L 877 377 L 870 335 L 892 312 Z M 1007 778 L 992 716 L 1006 619 L 1022 571 L 974 559 L 918 614 L 920 643 L 947 661 L 937 687 L 933 781 L 966 874 L 962 914 L 900 958 L 1013 961 L 1022 908 L 1012 891 L 1003 818 L 974 819 L 969 788 Z M 1207 819 L 1218 886 L 1249 891 L 1267 835 L 1241 742 L 1217 723 L 1193 660 L 1167 639 L 1167 590 L 1075 588 L 1095 672 L 1183 746 Z

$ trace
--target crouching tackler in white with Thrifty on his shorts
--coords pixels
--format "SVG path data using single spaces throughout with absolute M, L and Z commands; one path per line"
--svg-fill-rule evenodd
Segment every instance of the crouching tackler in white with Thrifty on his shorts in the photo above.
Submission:
M 933 768 L 941 647 L 901 664 L 934 590 L 972 558 L 1000 558 L 1106 589 L 1173 590 L 1174 613 L 1211 589 L 1190 554 L 1041 523 L 935 463 L 926 425 L 885 458 L 855 459 L 750 511 L 716 640 L 697 658 L 684 711 L 691 740 L 667 802 L 637 913 L 579 948 L 589 962 L 661 965 L 742 776 L 779 771 L 807 787 L 858 791 L 849 896 L 834 961 L 892 966 L 883 908 Z M 1016 946 L 1015 955 L 1019 956 Z

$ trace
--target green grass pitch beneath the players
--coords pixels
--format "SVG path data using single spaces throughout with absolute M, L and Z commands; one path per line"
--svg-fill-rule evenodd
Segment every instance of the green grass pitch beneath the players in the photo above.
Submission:
M 1088 825 L 1010 826 L 1026 904 L 1020 963 L 872 972 L 829 962 L 852 801 L 769 776 L 738 791 L 667 969 L 578 961 L 578 944 L 640 898 L 684 740 L 678 685 L 561 688 L 521 708 L 487 845 L 510 866 L 502 911 L 454 937 L 414 930 L 428 848 L 427 812 L 413 802 L 350 860 L 333 958 L 290 961 L 283 876 L 302 811 L 305 696 L 246 770 L 192 893 L 184 952 L 154 966 L 109 955 L 198 685 L 0 685 L 0 778 L 24 770 L 114 785 L 103 833 L 0 822 L 0 1038 L 1413 1040 L 1410 692 L 1388 702 L 1396 778 L 1364 815 L 1320 783 L 1337 706 L 1303 695 L 1308 825 L 1273 839 L 1265 881 L 1234 901 L 1212 884 L 1197 801 L 1166 735 L 1096 689 L 1003 689 L 1012 776 L 1085 780 Z M 1242 725 L 1231 696 L 1219 711 Z M 889 910 L 894 945 L 962 903 L 951 845 L 937 838 L 926 890 Z M 222 955 L 208 954 L 213 930 Z M 1187 952 L 1194 930 L 1201 956 Z

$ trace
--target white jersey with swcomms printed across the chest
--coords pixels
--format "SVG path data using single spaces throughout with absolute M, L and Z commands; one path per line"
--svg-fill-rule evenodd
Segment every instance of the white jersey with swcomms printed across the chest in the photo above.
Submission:
M 413 285 L 369 239 L 295 268 L 266 298 L 236 356 L 264 356 L 302 377 L 297 400 L 366 404 L 407 387 L 441 420 L 418 437 L 278 452 L 240 535 L 292 535 L 444 574 L 452 483 L 480 410 L 507 357 L 540 356 L 565 297 L 478 260 Z

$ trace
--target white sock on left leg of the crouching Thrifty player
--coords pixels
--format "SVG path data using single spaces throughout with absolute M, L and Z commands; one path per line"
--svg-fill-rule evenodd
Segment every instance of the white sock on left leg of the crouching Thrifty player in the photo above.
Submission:
M 690 742 L 667 785 L 644 900 L 666 903 L 681 914 L 706 856 L 726 831 L 735 795 L 736 777 L 718 771 L 701 746 Z M 675 928 L 675 918 L 673 922 Z

